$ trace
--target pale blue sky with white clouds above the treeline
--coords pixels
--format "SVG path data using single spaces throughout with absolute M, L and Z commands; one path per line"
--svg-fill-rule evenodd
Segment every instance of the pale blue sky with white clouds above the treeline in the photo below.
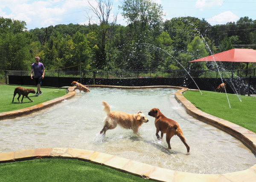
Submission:
M 104 1 L 104 0 L 103 0 Z M 107 0 L 108 1 L 108 0 Z M 124 0 L 113 1 L 110 21 L 117 14 L 117 24 L 126 26 L 122 15 Z M 256 20 L 256 0 L 152 0 L 163 7 L 163 20 L 174 17 L 203 18 L 211 25 L 236 22 L 240 17 Z M 0 17 L 26 22 L 28 30 L 45 28 L 58 24 L 87 25 L 98 23 L 90 4 L 96 7 L 95 0 L 0 0 Z

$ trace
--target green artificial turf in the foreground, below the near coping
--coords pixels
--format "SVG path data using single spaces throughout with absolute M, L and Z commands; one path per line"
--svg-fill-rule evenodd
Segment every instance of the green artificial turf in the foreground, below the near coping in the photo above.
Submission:
M 138 176 L 77 159 L 0 164 L 0 182 L 145 182 Z

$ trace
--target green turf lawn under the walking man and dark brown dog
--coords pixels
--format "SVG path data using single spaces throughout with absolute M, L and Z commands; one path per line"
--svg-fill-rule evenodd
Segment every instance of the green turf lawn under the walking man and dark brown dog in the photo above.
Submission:
M 0 85 L 0 113 L 6 111 L 15 111 L 17 109 L 27 108 L 33 105 L 40 104 L 42 102 L 46 102 L 48 100 L 52 100 L 58 97 L 65 95 L 66 89 L 59 89 L 59 88 L 44 88 L 41 87 L 42 95 L 35 95 L 30 93 L 28 96 L 34 102 L 31 102 L 28 98 L 23 98 L 23 103 L 18 102 L 18 94 L 16 94 L 14 101 L 12 102 L 13 93 L 16 87 L 20 85 Z M 21 86 L 23 88 L 33 88 L 35 91 L 37 90 L 36 86 Z M 20 101 L 22 99 L 22 95 L 20 96 Z

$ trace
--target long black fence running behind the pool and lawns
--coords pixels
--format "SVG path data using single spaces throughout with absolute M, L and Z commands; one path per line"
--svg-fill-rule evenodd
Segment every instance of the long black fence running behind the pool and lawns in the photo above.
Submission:
M 4 71 L 6 84 L 34 85 L 30 74 L 30 71 Z M 201 90 L 215 91 L 215 88 L 222 82 L 221 79 L 227 83 L 227 93 L 256 94 L 255 69 L 236 71 L 46 71 L 42 86 L 70 86 L 71 82 L 78 81 L 83 85 L 173 85 L 191 89 L 198 89 L 199 87 Z

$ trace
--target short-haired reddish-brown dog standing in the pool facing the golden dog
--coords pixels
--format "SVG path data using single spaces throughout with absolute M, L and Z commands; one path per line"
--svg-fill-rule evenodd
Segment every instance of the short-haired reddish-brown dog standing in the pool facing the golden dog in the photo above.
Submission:
M 172 149 L 170 145 L 170 139 L 172 138 L 173 135 L 177 135 L 178 137 L 180 137 L 181 141 L 186 146 L 187 152 L 189 152 L 189 145 L 186 143 L 186 139 L 183 136 L 180 126 L 176 121 L 165 117 L 157 108 L 151 109 L 148 112 L 148 115 L 156 118 L 155 126 L 157 128 L 157 139 L 160 139 L 158 135 L 159 131 L 161 131 L 161 139 L 163 138 L 163 134 L 166 134 L 166 142 L 168 144 L 168 148 Z

